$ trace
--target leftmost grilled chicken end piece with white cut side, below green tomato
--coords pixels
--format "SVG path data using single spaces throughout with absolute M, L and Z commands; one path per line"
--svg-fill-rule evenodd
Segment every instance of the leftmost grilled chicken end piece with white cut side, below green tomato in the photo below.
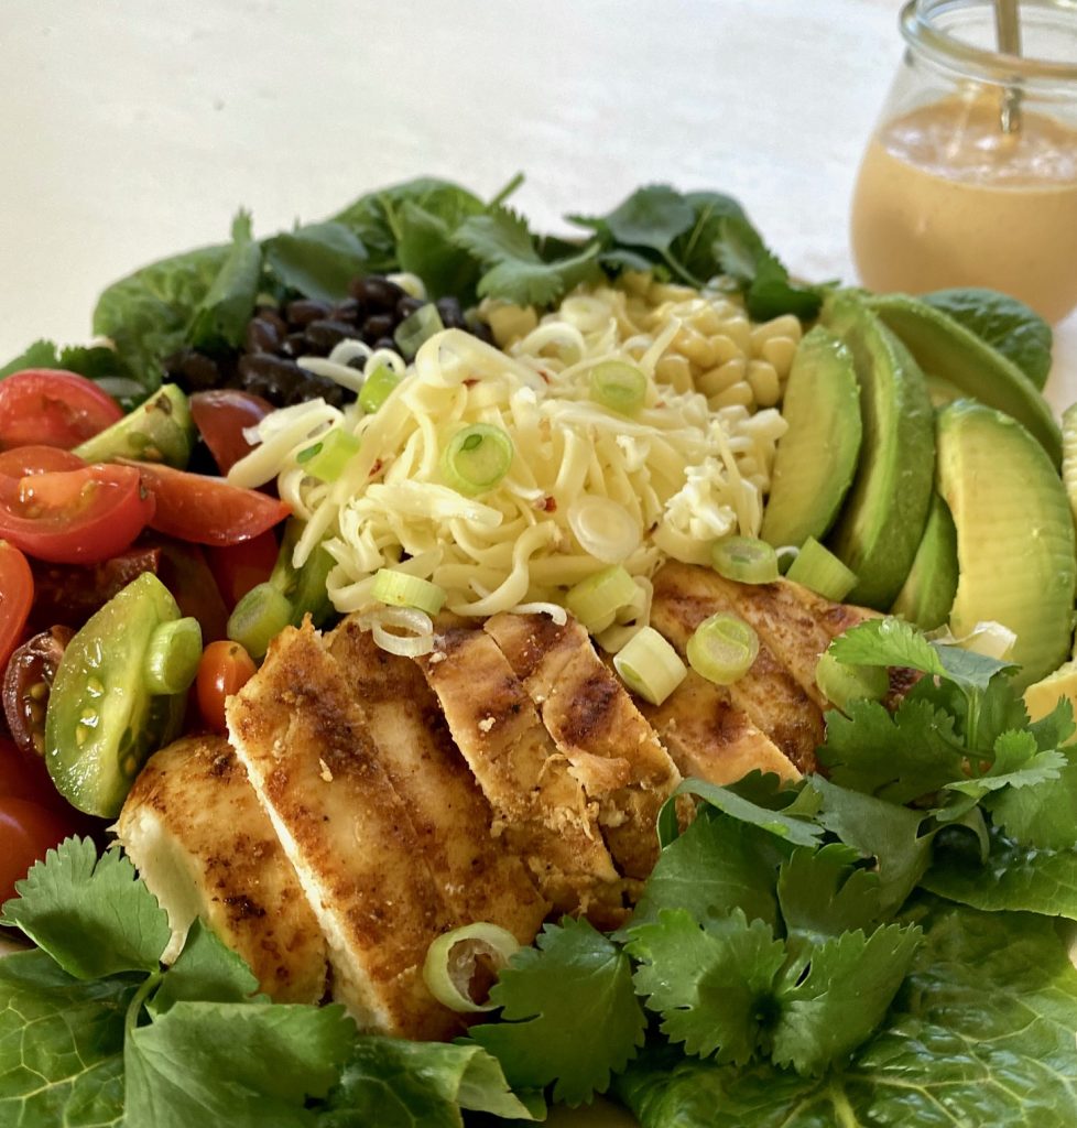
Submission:
M 131 788 L 116 834 L 168 913 L 166 962 L 202 917 L 276 1002 L 321 999 L 321 929 L 223 737 L 188 737 L 157 752 Z

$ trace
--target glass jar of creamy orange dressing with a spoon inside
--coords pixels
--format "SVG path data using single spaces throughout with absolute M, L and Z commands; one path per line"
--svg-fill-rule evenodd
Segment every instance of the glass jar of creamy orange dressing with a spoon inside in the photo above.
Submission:
M 911 0 L 908 44 L 853 199 L 872 290 L 991 287 L 1058 321 L 1077 306 L 1077 0 Z

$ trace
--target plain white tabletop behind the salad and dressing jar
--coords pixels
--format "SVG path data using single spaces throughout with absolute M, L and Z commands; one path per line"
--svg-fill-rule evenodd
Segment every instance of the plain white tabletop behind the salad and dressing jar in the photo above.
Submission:
M 109 281 L 422 174 L 539 226 L 668 182 L 854 279 L 856 165 L 898 0 L 20 0 L 0 29 L 0 363 L 82 341 Z M 1049 394 L 1077 399 L 1077 318 Z M 597 1121 L 595 1121 L 597 1122 Z

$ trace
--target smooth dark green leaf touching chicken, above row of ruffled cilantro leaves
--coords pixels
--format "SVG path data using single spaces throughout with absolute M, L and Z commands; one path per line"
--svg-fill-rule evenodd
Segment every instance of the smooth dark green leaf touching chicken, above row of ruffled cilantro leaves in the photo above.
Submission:
M 784 857 L 774 835 L 703 807 L 659 855 L 626 932 L 674 908 L 687 909 L 700 924 L 739 908 L 749 920 L 775 926 L 775 871 Z

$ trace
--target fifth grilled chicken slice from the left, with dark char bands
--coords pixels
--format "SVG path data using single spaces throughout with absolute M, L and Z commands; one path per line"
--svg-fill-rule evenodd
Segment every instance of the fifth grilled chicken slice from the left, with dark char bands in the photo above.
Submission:
M 586 796 L 613 862 L 643 881 L 657 861 L 655 821 L 680 773 L 588 632 L 546 615 L 496 615 L 486 632 L 538 708 Z

